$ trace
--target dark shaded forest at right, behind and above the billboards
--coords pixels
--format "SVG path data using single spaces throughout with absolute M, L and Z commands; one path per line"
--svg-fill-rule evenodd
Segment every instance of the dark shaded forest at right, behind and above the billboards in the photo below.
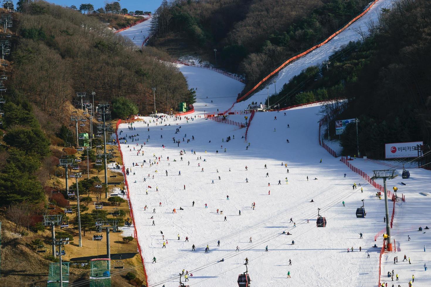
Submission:
M 331 135 L 334 120 L 357 117 L 360 152 L 383 158 L 384 143 L 431 142 L 431 3 L 397 1 L 368 32 L 334 52 L 328 67 L 309 67 L 295 76 L 270 103 L 347 98 L 345 108 L 328 106 Z M 355 125 L 347 126 L 341 144 L 344 154 L 356 153 Z

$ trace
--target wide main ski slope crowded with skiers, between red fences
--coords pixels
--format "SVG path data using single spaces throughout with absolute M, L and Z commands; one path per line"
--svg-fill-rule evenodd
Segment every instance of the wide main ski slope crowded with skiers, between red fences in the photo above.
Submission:
M 178 279 L 170 278 L 183 268 L 194 275 L 190 278 L 191 285 L 234 286 L 237 275 L 245 271 L 242 265 L 245 257 L 250 259 L 249 271 L 256 286 L 376 284 L 378 250 L 369 247 L 374 244 L 376 229 L 381 229 L 374 226 L 377 218 L 382 217 L 376 205 L 378 201 L 372 197 L 374 190 L 371 187 L 365 186 L 364 193 L 353 191 L 353 182 L 364 183 L 363 179 L 320 148 L 316 139 L 318 111 L 319 107 L 297 109 L 287 111 L 286 117 L 281 113 L 256 114 L 249 130 L 248 150 L 241 139 L 244 129 L 210 120 L 197 118 L 186 123 L 184 119 L 173 121 L 169 118 L 166 124 L 171 126 L 150 123 L 149 127 L 135 123 L 136 131 L 132 133 L 139 134 L 138 147 L 129 139 L 129 148 L 122 144 L 122 150 L 125 166 L 132 169 L 128 176 L 130 198 L 150 286 L 162 286 L 166 282 L 169 286 L 178 282 Z M 273 119 L 275 114 L 278 120 Z M 180 133 L 175 134 L 176 128 L 180 128 Z M 120 130 L 124 131 L 122 136 L 131 133 L 125 124 Z M 235 139 L 230 142 L 222 141 L 222 138 L 233 138 L 233 135 Z M 150 139 L 142 149 L 144 156 L 136 155 L 133 148 L 139 149 L 148 136 Z M 173 143 L 172 136 L 180 139 L 179 147 Z M 192 136 L 195 140 L 187 143 Z M 286 143 L 287 136 L 289 144 Z M 182 161 L 180 149 L 186 151 Z M 192 149 L 196 155 L 191 154 Z M 219 154 L 215 154 L 217 150 Z M 156 164 L 149 167 L 153 153 L 163 158 L 160 161 L 157 158 Z M 197 156 L 201 158 L 197 160 Z M 141 167 L 144 159 L 146 163 Z M 133 167 L 132 162 L 138 167 Z M 281 162 L 287 163 L 288 168 Z M 181 175 L 178 175 L 179 171 Z M 344 173 L 349 176 L 344 178 Z M 315 177 L 318 179 L 314 180 Z M 155 191 L 156 187 L 159 191 Z M 356 219 L 356 207 L 363 198 L 368 215 L 366 219 Z M 193 201 L 194 207 L 191 206 Z M 346 202 L 346 207 L 341 201 Z M 251 208 L 253 202 L 256 203 L 255 210 Z M 208 208 L 204 204 L 208 204 Z M 145 205 L 148 209 L 144 211 Z M 315 227 L 318 207 L 328 220 L 326 228 Z M 154 208 L 155 214 L 152 213 Z M 172 213 L 173 208 L 177 213 Z M 223 211 L 223 215 L 217 214 L 217 209 Z M 290 217 L 296 226 L 289 222 Z M 310 219 L 309 224 L 307 219 Z M 152 220 L 156 226 L 152 226 Z M 162 248 L 160 231 L 169 242 L 166 250 Z M 293 235 L 282 235 L 282 231 Z M 364 239 L 359 239 L 361 232 Z M 180 240 L 177 234 L 180 234 Z M 185 236 L 189 242 L 184 242 Z M 218 240 L 220 247 L 217 247 Z M 292 240 L 295 245 L 291 245 Z M 196 246 L 194 252 L 191 251 L 192 244 Z M 206 244 L 209 244 L 209 253 L 204 252 Z M 266 245 L 268 252 L 265 252 Z M 235 251 L 236 246 L 240 251 Z M 355 249 L 361 246 L 362 253 L 347 253 L 347 247 L 352 246 Z M 364 250 L 370 250 L 371 259 L 366 259 Z M 157 263 L 152 263 L 153 256 Z M 217 262 L 222 258 L 224 262 Z M 288 266 L 288 259 L 292 259 L 292 266 Z M 288 280 L 287 271 L 292 273 Z M 161 284 L 157 285 L 159 282 Z

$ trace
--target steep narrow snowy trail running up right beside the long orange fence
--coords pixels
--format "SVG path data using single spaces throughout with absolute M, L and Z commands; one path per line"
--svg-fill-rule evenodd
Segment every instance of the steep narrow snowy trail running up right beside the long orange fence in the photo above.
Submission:
M 340 49 L 341 46 L 347 45 L 350 41 L 360 40 L 361 35 L 358 33 L 358 31 L 362 31 L 365 33 L 365 35 L 367 35 L 367 24 L 369 24 L 370 21 L 375 23 L 378 22 L 378 16 L 381 13 L 381 9 L 389 9 L 392 6 L 392 3 L 394 3 L 394 0 L 378 1 L 374 6 L 372 6 L 369 12 L 363 15 L 360 19 L 356 20 L 356 22 L 350 25 L 349 28 L 338 34 L 328 43 L 281 69 L 278 75 L 273 78 L 273 80 L 276 80 L 277 83 L 275 86 L 273 86 L 273 84 L 270 85 L 269 95 L 271 96 L 275 93 L 275 91 L 279 92 L 285 83 L 288 83 L 292 77 L 300 74 L 300 72 L 304 69 L 313 65 L 322 64 L 323 61 L 328 60 L 329 56 L 334 51 Z M 267 98 L 267 91 L 266 89 L 263 89 L 263 87 L 264 85 L 262 85 L 260 91 L 258 89 L 258 91 L 246 101 L 237 103 L 235 105 L 235 109 L 245 109 L 251 102 L 265 102 L 265 99 Z

